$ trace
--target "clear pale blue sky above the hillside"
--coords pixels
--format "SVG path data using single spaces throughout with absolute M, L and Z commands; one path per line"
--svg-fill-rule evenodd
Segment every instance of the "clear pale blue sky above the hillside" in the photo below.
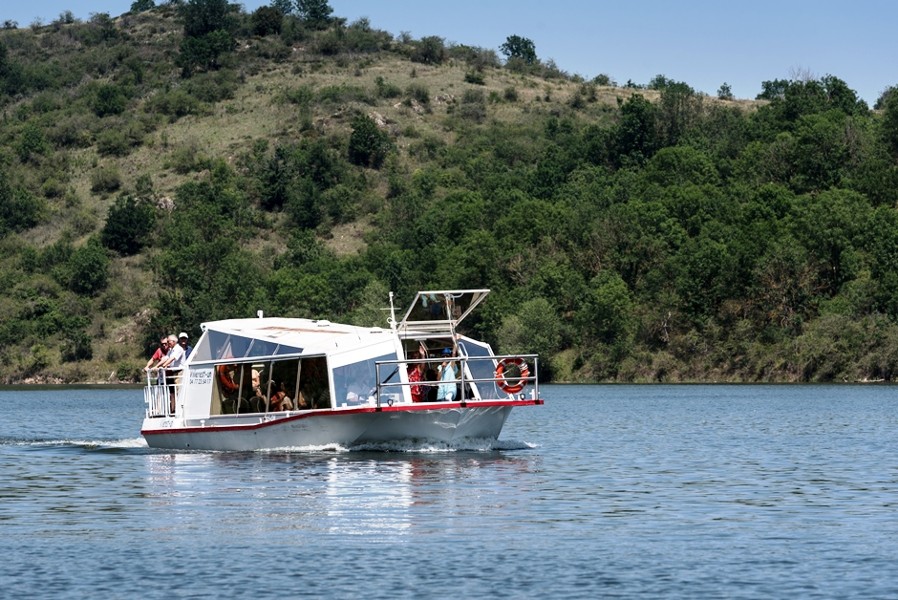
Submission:
M 160 4 L 160 0 L 156 0 Z M 232 0 L 233 1 L 233 0 Z M 0 23 L 50 23 L 65 11 L 115 17 L 132 0 L 2 0 Z M 270 0 L 243 0 L 252 12 Z M 754 98 L 773 79 L 843 80 L 869 105 L 898 85 L 894 0 L 330 0 L 334 16 L 365 17 L 394 36 L 436 35 L 494 49 L 510 35 L 540 60 L 589 80 L 646 84 L 656 75 L 717 95 Z M 500 54 L 501 56 L 501 54 Z

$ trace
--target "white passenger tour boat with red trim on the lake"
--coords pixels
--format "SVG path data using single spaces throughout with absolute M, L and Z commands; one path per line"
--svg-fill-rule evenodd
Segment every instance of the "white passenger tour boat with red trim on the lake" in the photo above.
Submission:
M 179 369 L 147 371 L 151 448 L 251 451 L 498 439 L 544 403 L 535 354 L 494 354 L 459 325 L 488 289 L 415 295 L 387 327 L 268 317 L 203 323 Z

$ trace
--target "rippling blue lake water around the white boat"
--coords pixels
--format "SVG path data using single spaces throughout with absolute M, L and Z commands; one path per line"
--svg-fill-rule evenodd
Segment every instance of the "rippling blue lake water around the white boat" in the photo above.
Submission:
M 898 388 L 541 389 L 493 446 L 255 453 L 0 391 L 0 595 L 898 597 Z

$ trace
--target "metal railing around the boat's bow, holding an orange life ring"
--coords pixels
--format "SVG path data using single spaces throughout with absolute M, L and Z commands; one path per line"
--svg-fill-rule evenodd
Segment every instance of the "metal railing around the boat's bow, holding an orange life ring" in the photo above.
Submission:
M 500 377 L 497 373 L 497 366 L 500 361 L 503 360 L 522 360 L 524 361 L 528 369 L 530 370 L 529 374 L 526 376 L 512 376 L 510 379 L 513 379 L 515 384 L 520 382 L 522 385 L 522 390 L 515 393 L 509 393 L 502 388 L 503 384 L 508 384 L 509 380 L 505 377 Z M 387 361 L 378 361 L 375 363 L 375 369 L 377 373 L 377 388 L 376 388 L 376 405 L 380 406 L 381 404 L 390 404 L 392 405 L 398 399 L 404 398 L 404 394 L 402 394 L 402 389 L 411 386 L 424 386 L 427 391 L 438 388 L 441 384 L 452 385 L 455 384 L 456 387 L 456 397 L 452 400 L 453 402 L 462 402 L 466 403 L 469 400 L 499 400 L 499 399 L 508 399 L 508 398 L 519 398 L 523 399 L 525 397 L 531 398 L 539 398 L 539 356 L 536 354 L 502 354 L 495 356 L 456 356 L 452 357 L 451 362 L 455 362 L 458 364 L 459 376 L 455 379 L 446 379 L 440 380 L 439 376 L 437 379 L 430 380 L 421 380 L 421 381 L 386 381 L 388 379 L 392 379 L 398 369 L 408 369 L 411 365 L 431 365 L 438 367 L 442 365 L 444 362 L 450 362 L 445 357 L 437 357 L 437 358 L 418 358 L 418 359 L 407 359 L 407 360 L 387 360 Z M 482 375 L 483 365 L 489 365 L 489 372 L 491 376 L 483 377 L 476 376 L 476 374 Z M 532 366 L 532 369 L 530 367 Z M 468 376 L 468 372 L 470 371 L 472 376 Z M 386 376 L 384 376 L 386 374 Z M 485 384 L 485 385 L 484 385 Z M 527 386 L 531 386 L 528 391 Z M 517 387 L 508 386 L 508 387 Z M 391 391 L 396 390 L 396 391 Z M 440 401 L 440 399 L 437 399 Z

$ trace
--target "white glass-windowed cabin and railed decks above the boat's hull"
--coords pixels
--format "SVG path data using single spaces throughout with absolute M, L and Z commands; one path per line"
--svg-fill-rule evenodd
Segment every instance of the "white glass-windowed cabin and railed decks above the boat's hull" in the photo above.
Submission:
M 528 384 L 538 398 L 535 356 L 505 362 L 457 331 L 488 292 L 418 292 L 401 319 L 391 307 L 388 328 L 261 315 L 204 323 L 181 370 L 148 375 L 147 418 L 177 415 L 205 424 L 360 406 L 464 404 L 508 399 Z

